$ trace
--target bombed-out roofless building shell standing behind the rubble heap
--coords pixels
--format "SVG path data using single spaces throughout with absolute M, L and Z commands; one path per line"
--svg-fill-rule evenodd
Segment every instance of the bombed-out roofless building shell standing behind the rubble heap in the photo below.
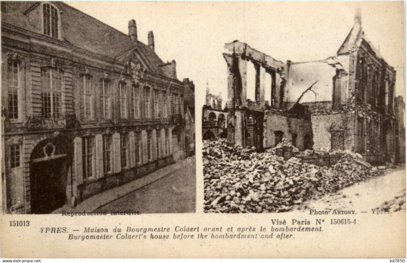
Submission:
M 352 150 L 370 163 L 405 156 L 396 71 L 366 39 L 359 11 L 336 56 L 321 61 L 284 63 L 239 41 L 225 50 L 228 142 L 267 148 L 285 138 L 299 150 Z

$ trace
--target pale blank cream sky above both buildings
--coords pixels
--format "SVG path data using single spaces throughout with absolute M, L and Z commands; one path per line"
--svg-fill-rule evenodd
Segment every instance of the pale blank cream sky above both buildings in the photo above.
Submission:
M 67 3 L 125 34 L 136 20 L 143 43 L 153 30 L 155 52 L 177 62 L 179 80 L 194 81 L 197 105 L 207 85 L 227 98 L 225 43 L 239 40 L 284 62 L 325 59 L 336 54 L 360 8 L 365 33 L 397 71 L 396 96 L 405 93 L 403 2 Z

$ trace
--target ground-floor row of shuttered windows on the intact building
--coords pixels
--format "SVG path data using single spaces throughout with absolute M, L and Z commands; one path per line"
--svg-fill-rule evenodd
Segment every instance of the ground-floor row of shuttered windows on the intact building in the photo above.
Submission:
M 143 152 L 143 142 L 141 132 L 136 132 L 134 138 L 134 154 L 136 156 L 136 164 L 142 163 L 142 156 L 147 155 L 148 161 L 153 161 L 155 152 L 156 157 L 167 156 L 170 152 L 168 129 L 164 130 L 164 147 L 162 147 L 161 133 L 157 132 L 155 145 L 153 145 L 152 132 L 147 131 L 147 152 Z M 113 172 L 113 135 L 105 134 L 102 136 L 102 156 L 103 156 L 103 174 Z M 129 133 L 120 134 L 120 168 L 129 168 L 130 159 L 130 140 Z M 82 138 L 82 176 L 83 179 L 94 177 L 96 145 L 94 137 Z

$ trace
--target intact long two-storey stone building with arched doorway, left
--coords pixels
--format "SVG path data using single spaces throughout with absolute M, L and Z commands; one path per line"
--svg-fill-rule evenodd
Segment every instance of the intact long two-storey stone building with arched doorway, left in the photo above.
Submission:
M 194 85 L 63 2 L 1 2 L 2 182 L 10 213 L 49 213 L 193 154 Z M 164 44 L 164 43 L 163 43 Z

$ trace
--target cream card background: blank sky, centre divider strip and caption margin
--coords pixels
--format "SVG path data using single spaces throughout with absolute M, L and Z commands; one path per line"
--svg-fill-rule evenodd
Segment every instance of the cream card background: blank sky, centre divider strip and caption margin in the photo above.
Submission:
M 2 215 L 2 258 L 132 258 L 132 257 L 275 257 L 404 258 L 405 211 L 391 215 L 358 213 L 356 225 L 323 224 L 321 233 L 292 233 L 294 239 L 68 240 L 68 234 L 41 234 L 41 227 L 199 226 L 269 228 L 271 219 L 341 218 L 311 216 L 309 211 L 267 214 L 205 214 L 201 153 L 201 106 L 206 83 L 226 97 L 223 44 L 247 42 L 271 57 L 309 61 L 334 55 L 362 9 L 362 26 L 382 56 L 397 70 L 396 95 L 404 95 L 403 2 L 68 2 L 127 33 L 134 18 L 140 41 L 153 30 L 155 49 L 163 60 L 177 61 L 178 78 L 195 82 L 197 210 L 187 214 L 139 216 Z M 86 10 L 85 10 L 86 9 Z M 120 25 L 119 25 L 120 24 Z M 372 195 L 374 195 L 372 191 Z M 394 193 L 396 194 L 396 193 Z M 385 201 L 385 200 L 383 200 Z M 377 204 L 379 205 L 379 204 Z M 370 211 L 374 207 L 366 207 Z M 359 211 L 357 211 L 359 212 Z M 349 218 L 349 216 L 343 216 Z M 10 220 L 30 220 L 30 227 L 10 227 Z M 291 226 L 290 223 L 288 226 Z M 80 232 L 72 232 L 80 229 Z M 122 232 L 123 233 L 123 232 Z M 202 233 L 202 232 L 200 232 Z M 236 234 L 236 230 L 234 232 Z M 110 233 L 112 234 L 112 233 Z M 196 233 L 195 233 L 196 234 Z M 276 233 L 275 233 L 276 234 Z M 209 234 L 210 235 L 210 234 Z

